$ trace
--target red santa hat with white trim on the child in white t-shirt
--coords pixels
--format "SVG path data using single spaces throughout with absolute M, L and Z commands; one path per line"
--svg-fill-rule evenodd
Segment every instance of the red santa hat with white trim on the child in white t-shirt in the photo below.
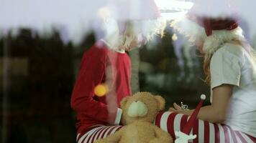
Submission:
M 204 39 L 204 53 L 213 54 L 227 41 L 244 41 L 237 18 L 229 0 L 196 0 L 188 14 L 173 21 L 171 26 L 192 43 Z

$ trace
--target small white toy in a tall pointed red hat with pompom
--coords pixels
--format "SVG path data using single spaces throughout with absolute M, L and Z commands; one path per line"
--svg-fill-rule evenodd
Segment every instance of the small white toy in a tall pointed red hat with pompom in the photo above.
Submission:
M 188 119 L 188 122 L 185 124 L 183 129 L 181 129 L 178 132 L 175 131 L 175 136 L 176 136 L 175 143 L 186 143 L 186 142 L 188 142 L 188 140 L 196 138 L 196 135 L 189 134 L 189 133 L 191 132 L 193 124 L 195 124 L 195 122 L 196 122 L 198 112 L 199 112 L 200 108 L 202 107 L 205 99 L 206 99 L 206 95 L 202 94 L 201 101 L 196 106 L 196 109 L 191 114 L 191 117 Z

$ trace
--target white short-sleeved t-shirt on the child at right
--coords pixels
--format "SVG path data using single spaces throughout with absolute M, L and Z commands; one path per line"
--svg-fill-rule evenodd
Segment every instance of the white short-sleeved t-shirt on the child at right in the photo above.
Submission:
M 212 56 L 210 69 L 211 89 L 234 85 L 224 123 L 256 137 L 256 62 L 242 46 L 224 44 Z

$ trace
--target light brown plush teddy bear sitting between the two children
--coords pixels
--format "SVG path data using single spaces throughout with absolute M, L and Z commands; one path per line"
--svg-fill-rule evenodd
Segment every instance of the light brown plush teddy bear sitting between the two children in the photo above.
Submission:
M 96 143 L 173 143 L 168 132 L 153 124 L 157 113 L 165 109 L 163 97 L 137 92 L 122 99 L 121 108 L 125 126 Z

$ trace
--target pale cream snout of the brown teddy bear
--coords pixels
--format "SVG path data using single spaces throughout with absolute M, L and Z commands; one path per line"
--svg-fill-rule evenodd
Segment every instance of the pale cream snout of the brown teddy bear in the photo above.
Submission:
M 147 106 L 140 100 L 136 100 L 129 105 L 127 114 L 129 117 L 144 117 L 147 114 Z

